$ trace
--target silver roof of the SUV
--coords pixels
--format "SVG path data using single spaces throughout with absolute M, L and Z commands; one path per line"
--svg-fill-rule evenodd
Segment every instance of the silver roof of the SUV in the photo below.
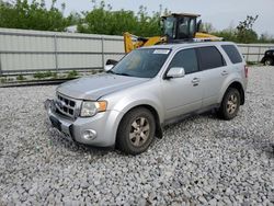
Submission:
M 174 43 L 174 44 L 162 44 L 162 45 L 153 45 L 148 47 L 141 47 L 141 49 L 146 48 L 162 48 L 162 49 L 180 49 L 180 48 L 190 48 L 190 47 L 198 47 L 198 46 L 217 46 L 217 45 L 235 45 L 231 42 L 191 42 L 191 43 Z

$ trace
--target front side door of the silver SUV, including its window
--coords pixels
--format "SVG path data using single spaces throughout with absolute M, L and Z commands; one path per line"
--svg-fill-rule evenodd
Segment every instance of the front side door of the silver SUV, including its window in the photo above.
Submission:
M 178 52 L 168 70 L 172 67 L 183 67 L 185 76 L 164 79 L 161 83 L 165 118 L 186 114 L 202 106 L 203 88 L 199 84 L 201 75 L 196 50 L 190 48 Z

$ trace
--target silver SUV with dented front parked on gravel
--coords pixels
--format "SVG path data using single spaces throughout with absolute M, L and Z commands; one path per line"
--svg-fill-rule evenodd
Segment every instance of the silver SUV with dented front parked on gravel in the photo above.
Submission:
M 68 138 L 137 154 L 162 136 L 164 125 L 189 115 L 216 108 L 233 118 L 244 103 L 247 76 L 233 43 L 142 47 L 104 73 L 59 85 L 46 107 Z

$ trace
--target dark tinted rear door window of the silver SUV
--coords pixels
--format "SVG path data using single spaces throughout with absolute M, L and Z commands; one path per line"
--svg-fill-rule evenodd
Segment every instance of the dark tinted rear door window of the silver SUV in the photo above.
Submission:
M 214 69 L 226 65 L 221 54 L 215 46 L 201 47 L 198 50 L 202 70 Z

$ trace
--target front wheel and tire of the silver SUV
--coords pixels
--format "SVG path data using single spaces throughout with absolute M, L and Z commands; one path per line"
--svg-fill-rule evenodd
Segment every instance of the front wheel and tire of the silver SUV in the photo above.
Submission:
M 155 139 L 156 123 L 151 112 L 145 107 L 129 111 L 121 121 L 116 146 L 127 154 L 139 154 Z

